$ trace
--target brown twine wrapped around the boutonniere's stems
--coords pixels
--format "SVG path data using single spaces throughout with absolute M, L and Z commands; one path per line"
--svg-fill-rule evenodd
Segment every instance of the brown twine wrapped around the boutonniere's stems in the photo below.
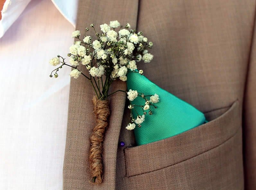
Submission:
M 93 183 L 102 183 L 102 144 L 104 140 L 105 129 L 108 126 L 108 116 L 110 115 L 108 100 L 99 100 L 93 97 L 95 127 L 91 135 L 90 149 L 90 170 Z

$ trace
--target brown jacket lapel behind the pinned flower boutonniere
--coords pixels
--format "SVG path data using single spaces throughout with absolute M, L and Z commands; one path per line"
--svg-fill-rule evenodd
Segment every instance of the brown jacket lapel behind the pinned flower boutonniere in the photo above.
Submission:
M 138 0 L 118 1 L 79 1 L 76 29 L 85 31 L 94 24 L 100 32 L 99 25 L 118 20 L 125 26 L 130 23 L 136 28 Z M 95 36 L 90 28 L 90 36 Z M 82 68 L 82 67 L 80 67 Z M 84 72 L 85 69 L 82 69 Z M 111 91 L 126 90 L 126 83 L 114 81 Z M 90 135 L 94 127 L 93 89 L 89 81 L 83 77 L 71 79 L 69 95 L 69 111 L 66 135 L 66 150 L 63 166 L 63 189 L 115 189 L 116 155 L 122 124 L 126 94 L 115 93 L 110 97 L 109 126 L 103 144 L 103 182 L 100 185 L 90 183 L 89 149 Z

